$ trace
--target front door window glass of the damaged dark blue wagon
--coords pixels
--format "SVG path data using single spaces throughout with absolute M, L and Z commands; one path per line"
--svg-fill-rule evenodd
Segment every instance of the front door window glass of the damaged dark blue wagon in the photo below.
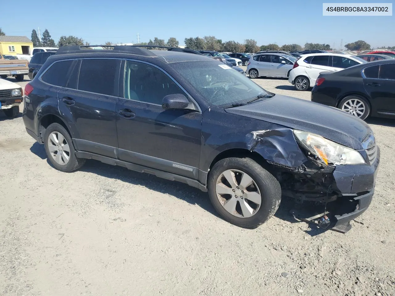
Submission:
M 135 101 L 162 105 L 164 96 L 186 94 L 160 69 L 140 63 L 126 61 L 124 75 L 124 97 Z

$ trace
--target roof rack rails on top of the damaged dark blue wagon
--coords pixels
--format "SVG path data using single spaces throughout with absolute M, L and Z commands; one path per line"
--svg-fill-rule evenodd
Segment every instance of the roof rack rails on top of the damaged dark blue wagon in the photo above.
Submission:
M 136 54 L 139 56 L 156 56 L 152 51 L 149 51 L 149 48 L 164 48 L 168 51 L 178 51 L 178 52 L 187 52 L 193 54 L 201 54 L 198 51 L 194 51 L 193 49 L 186 48 L 178 48 L 178 47 L 169 47 L 169 46 L 160 46 L 160 45 L 75 45 L 75 46 L 63 46 L 60 47 L 56 54 L 70 54 L 70 53 L 81 53 L 81 51 L 87 51 L 90 47 L 113 47 L 114 49 L 111 52 L 117 53 L 130 53 Z M 143 47 L 143 48 L 141 48 Z M 103 52 L 107 51 L 105 49 L 89 49 L 89 52 Z

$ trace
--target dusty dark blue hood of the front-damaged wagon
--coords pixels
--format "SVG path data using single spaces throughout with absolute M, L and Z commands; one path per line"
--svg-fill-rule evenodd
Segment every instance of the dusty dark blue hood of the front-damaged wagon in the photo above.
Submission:
M 225 111 L 315 133 L 354 149 L 363 149 L 362 141 L 372 133 L 363 120 L 339 109 L 282 95 Z

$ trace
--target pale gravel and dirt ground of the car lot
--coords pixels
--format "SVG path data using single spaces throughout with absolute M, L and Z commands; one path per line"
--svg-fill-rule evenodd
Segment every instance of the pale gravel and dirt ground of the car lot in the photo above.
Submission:
M 286 79 L 255 81 L 310 98 Z M 376 192 L 340 234 L 298 223 L 287 199 L 246 230 L 181 183 L 93 160 L 59 172 L 21 117 L 0 114 L 0 295 L 395 295 L 395 121 L 369 124 Z

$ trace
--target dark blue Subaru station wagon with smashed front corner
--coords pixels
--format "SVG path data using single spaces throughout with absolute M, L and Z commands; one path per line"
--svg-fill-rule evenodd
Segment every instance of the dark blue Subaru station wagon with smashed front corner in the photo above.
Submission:
M 282 195 L 315 205 L 308 221 L 350 227 L 374 193 L 380 150 L 365 122 L 197 52 L 62 47 L 25 93 L 26 131 L 56 169 L 96 159 L 184 182 L 240 227 L 267 221 Z

